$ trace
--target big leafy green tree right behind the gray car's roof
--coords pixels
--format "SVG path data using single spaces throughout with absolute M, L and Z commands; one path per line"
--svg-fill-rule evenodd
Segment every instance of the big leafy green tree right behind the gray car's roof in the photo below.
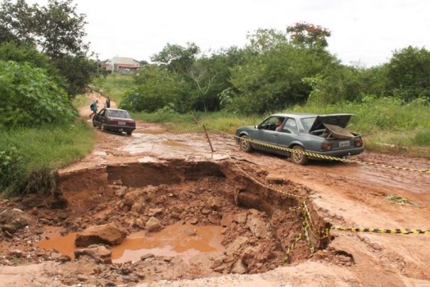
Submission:
M 259 35 L 264 39 L 259 40 Z M 248 53 L 243 65 L 232 68 L 230 82 L 237 91 L 232 105 L 238 112 L 264 113 L 305 102 L 311 86 L 303 78 L 313 77 L 336 62 L 327 52 L 292 45 L 285 35 L 274 31 L 255 37 L 251 48 L 256 53 Z M 258 43 L 257 48 L 254 43 Z

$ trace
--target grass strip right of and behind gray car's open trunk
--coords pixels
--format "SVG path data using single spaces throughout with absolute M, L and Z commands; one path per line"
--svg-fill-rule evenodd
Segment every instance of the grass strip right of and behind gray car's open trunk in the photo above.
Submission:
M 315 114 L 351 113 L 351 131 L 365 134 L 365 147 L 383 153 L 404 153 L 430 158 L 430 109 L 423 99 L 405 104 L 399 99 L 372 97 L 362 102 L 325 106 L 305 105 L 290 109 Z

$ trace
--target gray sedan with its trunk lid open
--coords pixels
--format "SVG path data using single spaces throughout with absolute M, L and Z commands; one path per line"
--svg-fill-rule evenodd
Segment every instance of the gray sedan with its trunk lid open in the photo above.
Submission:
M 240 127 L 235 135 L 243 151 L 249 152 L 255 148 L 291 156 L 294 163 L 306 164 L 308 158 L 312 157 L 281 151 L 274 146 L 335 157 L 357 155 L 364 151 L 362 136 L 345 129 L 352 116 L 353 114 L 272 114 L 257 126 Z

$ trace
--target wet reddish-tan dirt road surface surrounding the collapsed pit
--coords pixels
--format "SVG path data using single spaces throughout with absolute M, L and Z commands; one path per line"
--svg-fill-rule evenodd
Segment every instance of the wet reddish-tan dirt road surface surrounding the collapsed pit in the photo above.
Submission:
M 92 94 L 91 99 L 98 97 Z M 114 103 L 112 104 L 114 105 Z M 81 117 L 90 111 L 83 107 Z M 230 161 L 240 159 L 252 175 L 267 183 L 281 178 L 285 183 L 309 190 L 318 217 L 342 227 L 379 227 L 430 229 L 430 175 L 410 171 L 311 161 L 297 166 L 281 156 L 240 151 L 231 136 L 210 134 L 215 153 L 210 152 L 202 133 L 173 134 L 158 124 L 137 123 L 132 136 L 96 130 L 97 144 L 82 161 L 63 170 L 69 175 L 127 163 L 163 163 L 186 161 Z M 430 168 L 430 160 L 377 153 L 363 153 L 362 161 L 410 168 Z M 387 200 L 396 194 L 417 205 L 398 205 Z M 262 274 L 227 274 L 210 278 L 158 280 L 139 286 L 430 286 L 430 235 L 368 234 L 331 231 L 330 248 L 353 259 L 353 264 L 336 264 L 333 259 L 309 259 L 293 262 Z M 1 250 L 1 249 L 0 249 Z M 293 253 L 294 254 L 294 253 Z M 45 261 L 26 266 L 0 266 L 0 286 L 57 286 L 49 276 L 57 263 Z M 40 275 L 39 275 L 40 274 Z M 133 285 L 134 283 L 130 284 Z

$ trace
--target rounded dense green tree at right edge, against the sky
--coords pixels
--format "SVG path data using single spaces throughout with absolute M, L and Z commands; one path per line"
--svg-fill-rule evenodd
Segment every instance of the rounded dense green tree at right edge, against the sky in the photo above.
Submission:
M 387 64 L 387 90 L 407 101 L 430 97 L 430 51 L 412 46 L 394 51 Z

